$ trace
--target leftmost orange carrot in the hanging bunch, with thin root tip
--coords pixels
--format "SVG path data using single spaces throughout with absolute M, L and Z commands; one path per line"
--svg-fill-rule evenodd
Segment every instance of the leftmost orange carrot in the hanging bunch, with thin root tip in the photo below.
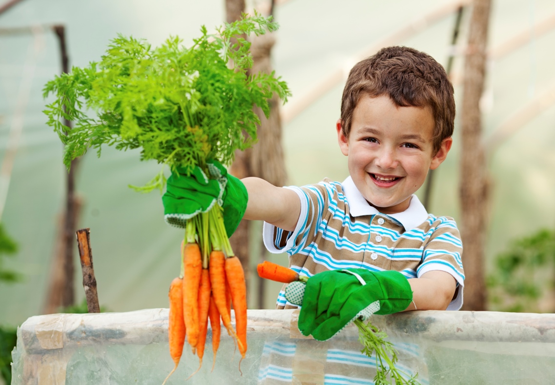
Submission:
M 183 321 L 183 279 L 176 277 L 171 281 L 170 291 L 168 293 L 170 300 L 170 313 L 168 316 L 168 341 L 170 345 L 170 356 L 175 366 L 171 370 L 168 377 L 164 379 L 162 385 L 168 381 L 171 374 L 175 372 L 183 354 L 183 345 L 185 343 L 185 322 Z

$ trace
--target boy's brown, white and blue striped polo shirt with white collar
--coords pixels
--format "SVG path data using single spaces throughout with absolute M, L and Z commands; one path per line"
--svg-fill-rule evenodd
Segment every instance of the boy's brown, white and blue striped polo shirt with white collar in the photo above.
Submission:
M 462 242 L 452 218 L 428 214 L 416 195 L 407 210 L 382 214 L 368 204 L 350 176 L 343 183 L 324 179 L 288 188 L 301 201 L 296 228 L 290 232 L 265 222 L 263 239 L 270 252 L 287 252 L 291 269 L 309 277 L 349 267 L 396 270 L 407 278 L 445 271 L 458 288 L 447 310 L 461 308 Z M 276 308 L 297 307 L 285 300 L 284 288 Z

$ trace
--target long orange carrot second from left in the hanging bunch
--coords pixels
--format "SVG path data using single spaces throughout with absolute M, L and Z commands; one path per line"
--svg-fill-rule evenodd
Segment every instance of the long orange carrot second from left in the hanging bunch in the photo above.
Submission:
M 198 244 L 183 244 L 183 318 L 193 354 L 199 340 L 199 284 L 203 266 Z

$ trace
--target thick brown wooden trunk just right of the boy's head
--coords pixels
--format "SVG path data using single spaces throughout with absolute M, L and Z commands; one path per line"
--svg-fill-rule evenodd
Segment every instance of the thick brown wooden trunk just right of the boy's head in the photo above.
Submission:
M 473 3 L 461 109 L 461 235 L 464 246 L 463 310 L 486 308 L 484 241 L 486 234 L 487 170 L 482 146 L 480 98 L 486 73 L 486 45 L 491 0 Z

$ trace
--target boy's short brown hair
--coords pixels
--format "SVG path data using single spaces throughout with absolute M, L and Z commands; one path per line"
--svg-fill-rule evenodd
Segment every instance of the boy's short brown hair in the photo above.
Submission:
M 430 55 L 408 47 L 382 48 L 351 69 L 341 99 L 341 125 L 351 130 L 352 114 L 363 95 L 388 95 L 398 107 L 432 109 L 434 154 L 443 139 L 453 134 L 455 98 L 445 69 Z

